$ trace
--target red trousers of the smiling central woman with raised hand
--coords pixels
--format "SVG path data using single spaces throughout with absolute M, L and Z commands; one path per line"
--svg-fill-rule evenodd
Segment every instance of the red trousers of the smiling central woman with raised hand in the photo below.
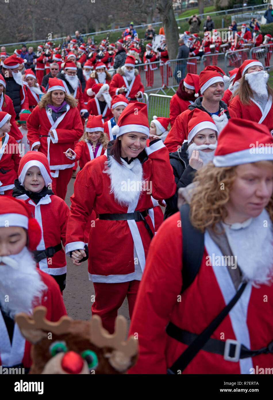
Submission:
M 99 315 L 102 318 L 103 327 L 111 334 L 114 333 L 118 309 L 122 306 L 126 296 L 129 305 L 129 315 L 132 319 L 139 283 L 139 280 L 120 283 L 93 282 L 95 302 L 91 307 L 92 315 Z

